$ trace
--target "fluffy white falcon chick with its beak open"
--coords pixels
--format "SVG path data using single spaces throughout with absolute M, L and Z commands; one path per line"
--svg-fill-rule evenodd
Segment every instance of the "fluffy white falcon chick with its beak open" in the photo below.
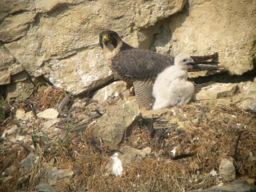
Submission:
M 156 99 L 153 110 L 187 104 L 192 98 L 195 87 L 187 81 L 188 69 L 193 68 L 194 60 L 185 53 L 178 54 L 174 65 L 165 68 L 157 75 L 153 86 Z

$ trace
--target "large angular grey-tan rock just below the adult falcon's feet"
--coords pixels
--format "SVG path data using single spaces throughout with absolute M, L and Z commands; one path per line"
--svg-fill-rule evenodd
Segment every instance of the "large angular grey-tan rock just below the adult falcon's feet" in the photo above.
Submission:
M 118 145 L 124 136 L 131 133 L 132 126 L 140 117 L 140 109 L 135 102 L 109 107 L 97 121 L 93 129 L 94 137 L 101 137 L 103 141 Z

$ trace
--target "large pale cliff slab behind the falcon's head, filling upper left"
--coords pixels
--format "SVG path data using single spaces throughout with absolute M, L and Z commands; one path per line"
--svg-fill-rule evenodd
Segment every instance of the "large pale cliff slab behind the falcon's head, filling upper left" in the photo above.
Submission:
M 128 43 L 148 48 L 157 33 L 150 27 L 181 11 L 186 2 L 1 1 L 0 42 L 30 76 L 43 75 L 53 85 L 79 94 L 112 77 L 98 42 L 103 29 L 116 30 Z M 3 81 L 8 82 L 7 76 Z

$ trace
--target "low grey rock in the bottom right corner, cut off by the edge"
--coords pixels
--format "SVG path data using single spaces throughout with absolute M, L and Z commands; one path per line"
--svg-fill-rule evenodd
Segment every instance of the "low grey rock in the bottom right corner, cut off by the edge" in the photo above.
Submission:
M 223 187 L 211 187 L 209 189 L 199 189 L 190 192 L 254 192 L 256 187 L 249 185 L 244 180 L 236 180 Z

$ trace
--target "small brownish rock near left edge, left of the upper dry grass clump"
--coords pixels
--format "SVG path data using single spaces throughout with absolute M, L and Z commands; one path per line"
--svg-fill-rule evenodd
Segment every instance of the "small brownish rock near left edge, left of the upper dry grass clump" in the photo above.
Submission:
M 29 79 L 22 82 L 9 84 L 5 89 L 7 95 L 6 100 L 8 102 L 13 102 L 14 100 L 17 102 L 25 101 L 30 97 L 34 89 L 35 86 Z

